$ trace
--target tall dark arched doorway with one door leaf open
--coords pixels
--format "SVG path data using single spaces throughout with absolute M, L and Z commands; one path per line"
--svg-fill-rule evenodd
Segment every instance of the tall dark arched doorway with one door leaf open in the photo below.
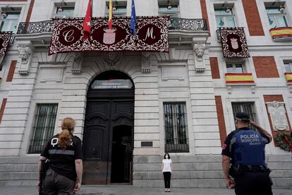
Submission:
M 87 92 L 83 184 L 131 183 L 133 81 L 125 73 L 99 74 Z

